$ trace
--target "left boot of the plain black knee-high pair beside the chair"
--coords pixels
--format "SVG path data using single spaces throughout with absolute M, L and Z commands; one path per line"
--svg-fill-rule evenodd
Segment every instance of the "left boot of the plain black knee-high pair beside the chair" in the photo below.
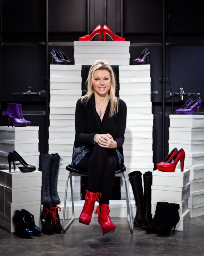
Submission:
M 133 171 L 128 174 L 129 181 L 132 186 L 134 199 L 137 207 L 137 214 L 134 218 L 134 226 L 140 227 L 144 216 L 144 195 L 142 188 L 142 173 L 140 171 Z

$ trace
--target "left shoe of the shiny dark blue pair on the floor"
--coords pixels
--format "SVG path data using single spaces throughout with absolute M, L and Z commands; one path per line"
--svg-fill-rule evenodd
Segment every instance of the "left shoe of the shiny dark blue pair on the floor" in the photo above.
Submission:
M 30 237 L 33 235 L 33 231 L 29 229 L 23 212 L 16 210 L 16 213 L 13 217 L 13 223 L 16 235 L 22 237 Z

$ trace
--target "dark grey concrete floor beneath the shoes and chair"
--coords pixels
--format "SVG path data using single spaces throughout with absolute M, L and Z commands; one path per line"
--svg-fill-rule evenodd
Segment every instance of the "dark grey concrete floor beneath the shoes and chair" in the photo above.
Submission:
M 89 226 L 74 220 L 66 233 L 23 239 L 0 228 L 0 256 L 203 256 L 204 216 L 191 218 L 184 231 L 168 236 L 146 233 L 125 218 L 112 218 L 114 233 L 103 236 L 96 218 Z

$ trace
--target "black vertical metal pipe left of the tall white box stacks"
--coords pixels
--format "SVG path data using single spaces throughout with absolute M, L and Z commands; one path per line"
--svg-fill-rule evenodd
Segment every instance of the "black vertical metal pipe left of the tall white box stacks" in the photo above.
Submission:
M 49 150 L 49 125 L 50 125 L 50 119 L 49 119 L 49 104 L 50 104 L 50 82 L 49 82 L 49 55 L 48 55 L 48 0 L 46 1 L 46 20 L 45 20 L 45 91 L 46 91 L 46 106 L 45 106 L 45 129 L 46 129 L 46 135 L 45 135 L 45 145 L 46 145 L 46 153 L 48 153 Z

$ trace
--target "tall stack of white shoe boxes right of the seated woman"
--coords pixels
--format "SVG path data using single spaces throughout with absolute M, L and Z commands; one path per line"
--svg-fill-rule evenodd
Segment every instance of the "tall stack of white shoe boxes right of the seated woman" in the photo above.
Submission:
M 153 114 L 150 65 L 119 66 L 120 98 L 127 105 L 127 124 L 123 145 L 126 175 L 132 171 L 153 171 Z M 131 204 L 134 195 L 129 184 Z M 124 184 L 121 187 L 125 198 Z M 133 207 L 133 215 L 136 211 Z

